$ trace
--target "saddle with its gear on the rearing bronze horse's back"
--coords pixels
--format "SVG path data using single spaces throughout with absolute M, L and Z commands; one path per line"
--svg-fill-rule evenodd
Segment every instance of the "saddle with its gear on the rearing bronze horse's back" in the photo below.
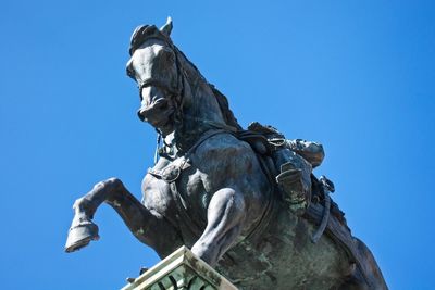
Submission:
M 302 140 L 287 140 L 272 126 L 252 123 L 248 130 L 238 133 L 237 137 L 248 142 L 260 160 L 268 164 L 266 175 L 274 179 L 281 198 L 297 215 L 302 215 L 313 199 L 312 184 L 315 181 L 312 168 L 323 160 L 323 148 Z M 318 192 L 316 192 L 318 193 Z M 315 200 L 320 200 L 319 197 Z

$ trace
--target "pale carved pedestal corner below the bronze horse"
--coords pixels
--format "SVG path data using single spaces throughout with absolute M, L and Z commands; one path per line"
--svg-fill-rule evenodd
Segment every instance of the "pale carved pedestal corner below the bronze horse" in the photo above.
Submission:
M 206 262 L 182 247 L 122 290 L 237 290 Z

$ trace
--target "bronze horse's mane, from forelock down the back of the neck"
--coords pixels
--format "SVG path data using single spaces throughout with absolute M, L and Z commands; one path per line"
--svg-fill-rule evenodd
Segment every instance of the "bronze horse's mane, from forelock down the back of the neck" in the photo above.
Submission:
M 141 43 L 144 43 L 148 38 L 156 37 L 162 39 L 167 42 L 175 49 L 175 53 L 179 53 L 186 63 L 194 70 L 194 73 L 203 78 L 206 84 L 209 85 L 211 91 L 213 92 L 216 101 L 219 103 L 219 108 L 221 109 L 222 115 L 226 125 L 236 128 L 237 130 L 241 130 L 241 126 L 238 124 L 237 118 L 234 116 L 233 111 L 229 109 L 228 99 L 216 88 L 214 85 L 209 84 L 206 78 L 201 75 L 198 67 L 186 58 L 186 55 L 181 51 L 173 42 L 172 39 L 162 34 L 154 25 L 142 25 L 135 29 L 130 39 L 129 54 L 133 55 L 133 52 L 138 49 Z M 127 66 L 127 74 L 130 75 L 129 67 Z

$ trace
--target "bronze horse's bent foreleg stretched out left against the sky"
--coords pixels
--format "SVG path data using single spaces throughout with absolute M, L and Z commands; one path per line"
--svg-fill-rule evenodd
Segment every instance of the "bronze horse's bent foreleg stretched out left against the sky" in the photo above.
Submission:
M 129 230 L 141 242 L 159 254 L 181 244 L 177 231 L 162 216 L 145 207 L 117 178 L 98 182 L 86 196 L 75 201 L 66 252 L 73 252 L 98 239 L 94 214 L 101 203 L 110 204 L 123 218 Z M 165 250 L 166 249 L 166 250 Z

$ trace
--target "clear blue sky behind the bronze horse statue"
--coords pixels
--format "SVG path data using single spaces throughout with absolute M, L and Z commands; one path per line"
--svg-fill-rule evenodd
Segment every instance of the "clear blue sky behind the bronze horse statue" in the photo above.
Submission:
M 158 262 L 101 206 L 101 240 L 63 245 L 74 200 L 117 176 L 140 197 L 154 133 L 125 75 L 130 33 L 173 40 L 245 126 L 316 140 L 352 232 L 390 289 L 434 289 L 432 1 L 0 3 L 2 289 L 116 289 Z

